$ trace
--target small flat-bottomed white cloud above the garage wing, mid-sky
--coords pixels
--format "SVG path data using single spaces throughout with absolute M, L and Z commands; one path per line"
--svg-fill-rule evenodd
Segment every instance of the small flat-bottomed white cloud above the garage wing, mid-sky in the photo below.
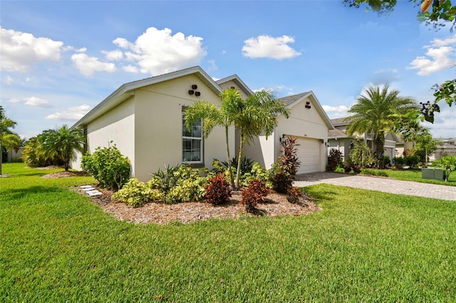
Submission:
M 244 41 L 242 55 L 249 58 L 272 58 L 278 60 L 301 55 L 301 53 L 291 48 L 288 43 L 294 43 L 294 38 L 285 35 L 276 38 L 267 35 L 249 38 Z

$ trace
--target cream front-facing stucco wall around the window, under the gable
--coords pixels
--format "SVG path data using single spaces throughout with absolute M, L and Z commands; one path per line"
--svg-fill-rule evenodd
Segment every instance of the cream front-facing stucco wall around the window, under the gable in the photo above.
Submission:
M 189 95 L 197 85 L 199 97 Z M 219 96 L 195 75 L 142 87 L 135 91 L 135 176 L 141 181 L 166 165 L 182 163 L 182 107 L 196 100 L 220 105 Z M 230 149 L 234 152 L 234 131 L 230 129 Z M 226 159 L 225 133 L 222 127 L 204 139 L 204 166 L 212 168 L 212 159 Z

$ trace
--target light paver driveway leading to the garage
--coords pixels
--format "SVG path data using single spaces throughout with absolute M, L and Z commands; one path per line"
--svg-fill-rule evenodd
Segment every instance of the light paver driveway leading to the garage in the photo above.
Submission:
M 373 191 L 383 191 L 385 193 L 398 193 L 409 196 L 456 201 L 456 186 L 328 172 L 301 174 L 296 176 L 296 180 L 297 181 L 295 181 L 293 185 L 299 187 L 326 183 L 339 186 L 371 189 Z

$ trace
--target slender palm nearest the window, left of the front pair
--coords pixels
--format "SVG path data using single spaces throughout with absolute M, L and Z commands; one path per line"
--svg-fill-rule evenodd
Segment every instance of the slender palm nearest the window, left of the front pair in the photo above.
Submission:
M 216 126 L 222 126 L 225 129 L 225 143 L 227 146 L 227 160 L 229 171 L 229 182 L 231 187 L 234 188 L 234 176 L 230 169 L 232 158 L 229 153 L 229 136 L 228 129 L 234 124 L 233 117 L 239 103 L 242 102 L 239 90 L 229 88 L 224 90 L 219 95 L 222 100 L 222 107 L 217 108 L 213 103 L 207 101 L 197 101 L 185 110 L 185 127 L 192 129 L 192 124 L 202 120 L 202 134 L 207 138 Z

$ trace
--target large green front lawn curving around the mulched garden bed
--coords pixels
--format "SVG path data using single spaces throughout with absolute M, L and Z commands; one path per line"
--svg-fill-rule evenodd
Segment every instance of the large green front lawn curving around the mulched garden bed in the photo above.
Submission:
M 455 302 L 455 202 L 320 184 L 308 216 L 135 225 L 3 170 L 0 302 Z

